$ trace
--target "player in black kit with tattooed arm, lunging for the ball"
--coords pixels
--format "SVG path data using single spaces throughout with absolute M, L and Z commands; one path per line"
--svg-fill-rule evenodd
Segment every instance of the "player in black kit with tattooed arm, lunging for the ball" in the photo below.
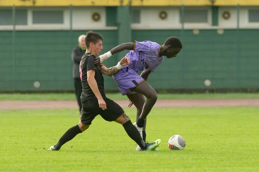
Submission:
M 96 32 L 89 31 L 86 34 L 86 53 L 81 59 L 79 68 L 83 87 L 81 119 L 78 125 L 68 129 L 59 141 L 48 150 L 59 150 L 63 144 L 72 140 L 77 134 L 87 130 L 97 115 L 101 115 L 106 121 L 115 121 L 122 124 L 128 136 L 141 147 L 141 150 L 153 150 L 161 142 L 160 139 L 152 143 L 144 142 L 137 128 L 132 124 L 123 109 L 105 96 L 102 74 L 113 76 L 122 66 L 130 64 L 130 62 L 124 57 L 116 66 L 107 68 L 104 65 L 99 65 L 96 67 L 94 59 L 102 50 L 102 40 L 102 36 Z

